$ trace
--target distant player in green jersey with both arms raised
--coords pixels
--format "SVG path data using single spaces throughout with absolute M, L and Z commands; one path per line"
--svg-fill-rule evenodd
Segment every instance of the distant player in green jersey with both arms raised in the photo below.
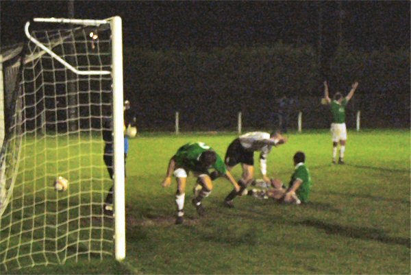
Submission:
M 354 92 L 358 87 L 358 82 L 351 85 L 351 91 L 349 91 L 346 97 L 343 97 L 341 93 L 334 95 L 334 100 L 331 101 L 328 95 L 328 85 L 324 82 L 324 99 L 326 104 L 331 104 L 332 112 L 332 163 L 336 164 L 337 146 L 340 142 L 340 158 L 338 158 L 338 164 L 344 164 L 344 152 L 345 144 L 347 143 L 347 127 L 345 125 L 345 106 L 349 99 L 353 97 Z

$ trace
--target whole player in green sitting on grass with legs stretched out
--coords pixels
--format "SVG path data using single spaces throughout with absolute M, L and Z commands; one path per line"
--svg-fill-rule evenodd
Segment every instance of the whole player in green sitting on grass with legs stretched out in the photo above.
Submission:
M 312 181 L 310 171 L 306 165 L 306 155 L 303 152 L 297 152 L 294 155 L 295 171 L 291 176 L 288 189 L 283 187 L 281 180 L 271 180 L 271 189 L 260 190 L 253 189 L 249 195 L 256 198 L 273 198 L 285 203 L 300 204 L 301 202 L 308 202 Z

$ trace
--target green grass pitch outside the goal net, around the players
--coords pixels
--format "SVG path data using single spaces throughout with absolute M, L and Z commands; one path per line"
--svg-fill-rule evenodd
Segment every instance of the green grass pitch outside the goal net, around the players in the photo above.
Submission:
M 310 203 L 275 204 L 249 196 L 225 208 L 232 189 L 223 178 L 203 200 L 206 217 L 190 204 L 175 226 L 175 183 L 161 187 L 169 158 L 189 141 L 203 141 L 222 157 L 228 134 L 145 134 L 127 158 L 127 257 L 12 270 L 21 274 L 410 274 L 410 131 L 349 131 L 346 165 L 331 165 L 327 131 L 292 133 L 273 148 L 269 176 L 286 184 L 292 156 L 306 153 Z M 256 154 L 256 163 L 258 155 Z M 233 171 L 240 177 L 240 167 Z M 258 176 L 256 169 L 256 176 Z

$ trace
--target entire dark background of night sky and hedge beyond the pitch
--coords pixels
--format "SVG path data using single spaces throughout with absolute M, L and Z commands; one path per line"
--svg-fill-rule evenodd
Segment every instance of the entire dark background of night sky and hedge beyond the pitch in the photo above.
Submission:
M 277 99 L 296 99 L 305 126 L 327 127 L 323 80 L 347 93 L 354 125 L 410 127 L 409 1 L 75 1 L 75 18 L 123 18 L 125 97 L 141 130 L 275 125 Z M 67 17 L 67 1 L 1 1 L 1 45 L 25 21 Z M 292 118 L 292 121 L 296 119 Z M 368 122 L 367 122 L 368 121 Z M 295 122 L 294 122 L 295 124 Z

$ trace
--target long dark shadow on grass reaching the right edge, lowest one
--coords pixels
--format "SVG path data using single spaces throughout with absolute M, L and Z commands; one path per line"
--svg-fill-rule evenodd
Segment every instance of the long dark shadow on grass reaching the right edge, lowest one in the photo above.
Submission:
M 353 239 L 364 239 L 371 241 L 380 241 L 382 243 L 397 244 L 410 248 L 410 238 L 389 237 L 383 230 L 366 227 L 351 227 L 341 226 L 339 224 L 327 224 L 318 219 L 306 219 L 302 222 L 297 222 L 295 225 L 311 226 L 320 230 L 324 230 L 329 235 L 339 235 Z

